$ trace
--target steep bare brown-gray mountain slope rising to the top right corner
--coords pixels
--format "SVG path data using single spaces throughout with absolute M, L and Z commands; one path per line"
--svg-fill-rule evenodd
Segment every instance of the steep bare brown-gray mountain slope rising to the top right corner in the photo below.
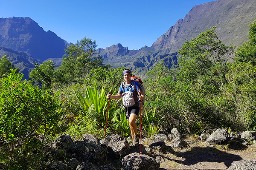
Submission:
M 216 33 L 226 45 L 240 46 L 247 41 L 248 24 L 256 19 L 255 0 L 218 0 L 194 6 L 152 45 L 156 50 L 182 47 L 186 40 L 216 26 Z

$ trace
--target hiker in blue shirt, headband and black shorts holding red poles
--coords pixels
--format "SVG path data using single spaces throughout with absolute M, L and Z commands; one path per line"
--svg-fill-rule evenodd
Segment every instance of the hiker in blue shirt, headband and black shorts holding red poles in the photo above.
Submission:
M 108 98 L 120 99 L 122 97 L 123 105 L 126 110 L 125 116 L 126 119 L 128 119 L 129 121 L 133 144 L 134 146 L 136 146 L 137 144 L 139 144 L 139 135 L 137 131 L 137 124 L 135 123 L 135 121 L 138 113 L 140 113 L 139 101 L 143 100 L 144 95 L 142 93 L 142 89 L 140 88 L 139 83 L 131 80 L 132 74 L 129 69 L 123 71 L 123 76 L 125 82 L 122 82 L 122 84 L 120 85 L 118 94 L 115 96 L 108 94 Z M 133 87 L 135 87 L 136 89 Z

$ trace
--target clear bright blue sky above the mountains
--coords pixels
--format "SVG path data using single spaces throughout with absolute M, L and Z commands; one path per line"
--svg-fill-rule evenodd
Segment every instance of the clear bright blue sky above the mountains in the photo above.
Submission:
M 84 37 L 97 48 L 151 46 L 189 10 L 215 0 L 0 0 L 0 17 L 30 17 L 67 42 Z

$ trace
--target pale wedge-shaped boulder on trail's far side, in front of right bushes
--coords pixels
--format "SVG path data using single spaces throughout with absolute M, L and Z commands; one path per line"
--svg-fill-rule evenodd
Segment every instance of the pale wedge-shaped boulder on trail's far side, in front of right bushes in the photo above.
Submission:
M 227 140 L 228 134 L 225 129 L 217 129 L 214 133 L 212 133 L 209 138 L 206 140 L 208 144 L 218 144 L 221 142 L 225 142 Z

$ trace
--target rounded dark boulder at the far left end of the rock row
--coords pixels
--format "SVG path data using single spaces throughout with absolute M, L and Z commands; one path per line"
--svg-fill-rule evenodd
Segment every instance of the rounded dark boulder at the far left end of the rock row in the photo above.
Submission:
M 71 139 L 71 136 L 68 134 L 64 134 L 61 136 L 58 136 L 57 139 L 55 139 L 53 147 L 58 148 L 61 147 L 64 150 L 70 151 L 72 147 L 75 146 L 74 141 Z

